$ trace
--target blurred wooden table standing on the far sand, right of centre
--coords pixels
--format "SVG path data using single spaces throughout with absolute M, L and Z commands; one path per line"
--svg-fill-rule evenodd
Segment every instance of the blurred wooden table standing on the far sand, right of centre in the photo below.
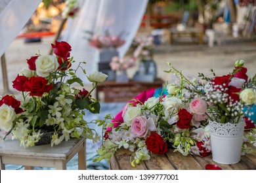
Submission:
M 165 33 L 167 33 L 169 44 L 173 44 L 175 39 L 179 39 L 181 37 L 190 37 L 192 41 L 197 38 L 198 44 L 203 44 L 203 31 L 197 27 L 184 27 L 183 30 L 178 30 L 175 27 L 171 29 L 165 29 Z

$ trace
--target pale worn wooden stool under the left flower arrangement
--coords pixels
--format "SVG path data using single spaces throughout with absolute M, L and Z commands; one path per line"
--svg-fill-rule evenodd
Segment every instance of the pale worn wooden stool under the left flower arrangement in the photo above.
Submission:
M 55 167 L 66 170 L 66 164 L 78 154 L 78 169 L 86 169 L 86 139 L 70 139 L 57 146 L 51 144 L 24 148 L 20 141 L 0 141 L 0 169 L 5 164 L 24 165 L 24 169 L 33 167 Z

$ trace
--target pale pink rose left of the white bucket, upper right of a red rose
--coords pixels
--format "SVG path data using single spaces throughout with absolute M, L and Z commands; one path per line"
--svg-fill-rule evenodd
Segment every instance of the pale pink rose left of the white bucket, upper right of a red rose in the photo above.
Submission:
M 207 111 L 207 103 L 203 99 L 196 98 L 189 104 L 191 112 L 195 114 L 205 114 Z

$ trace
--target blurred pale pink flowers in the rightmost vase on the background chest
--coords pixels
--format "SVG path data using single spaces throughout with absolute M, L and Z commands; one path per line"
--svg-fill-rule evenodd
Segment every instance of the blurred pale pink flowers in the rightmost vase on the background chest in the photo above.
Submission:
M 153 59 L 154 55 L 154 37 L 149 36 L 146 39 L 135 39 L 133 45 L 136 46 L 133 52 L 133 57 L 139 59 L 140 61 L 145 61 L 147 59 Z

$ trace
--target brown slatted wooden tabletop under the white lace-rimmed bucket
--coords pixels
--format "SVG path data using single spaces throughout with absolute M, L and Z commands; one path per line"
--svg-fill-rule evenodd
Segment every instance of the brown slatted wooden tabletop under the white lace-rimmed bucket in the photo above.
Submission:
M 256 152 L 256 147 L 253 147 Z M 131 167 L 130 155 L 132 152 L 120 149 L 110 159 L 111 170 L 203 170 L 205 165 L 214 164 L 223 170 L 256 170 L 256 153 L 241 156 L 239 163 L 224 165 L 213 161 L 212 156 L 205 158 L 200 156 L 182 156 L 179 152 L 169 150 L 165 155 L 154 154 L 149 161 L 143 161 L 137 167 Z

